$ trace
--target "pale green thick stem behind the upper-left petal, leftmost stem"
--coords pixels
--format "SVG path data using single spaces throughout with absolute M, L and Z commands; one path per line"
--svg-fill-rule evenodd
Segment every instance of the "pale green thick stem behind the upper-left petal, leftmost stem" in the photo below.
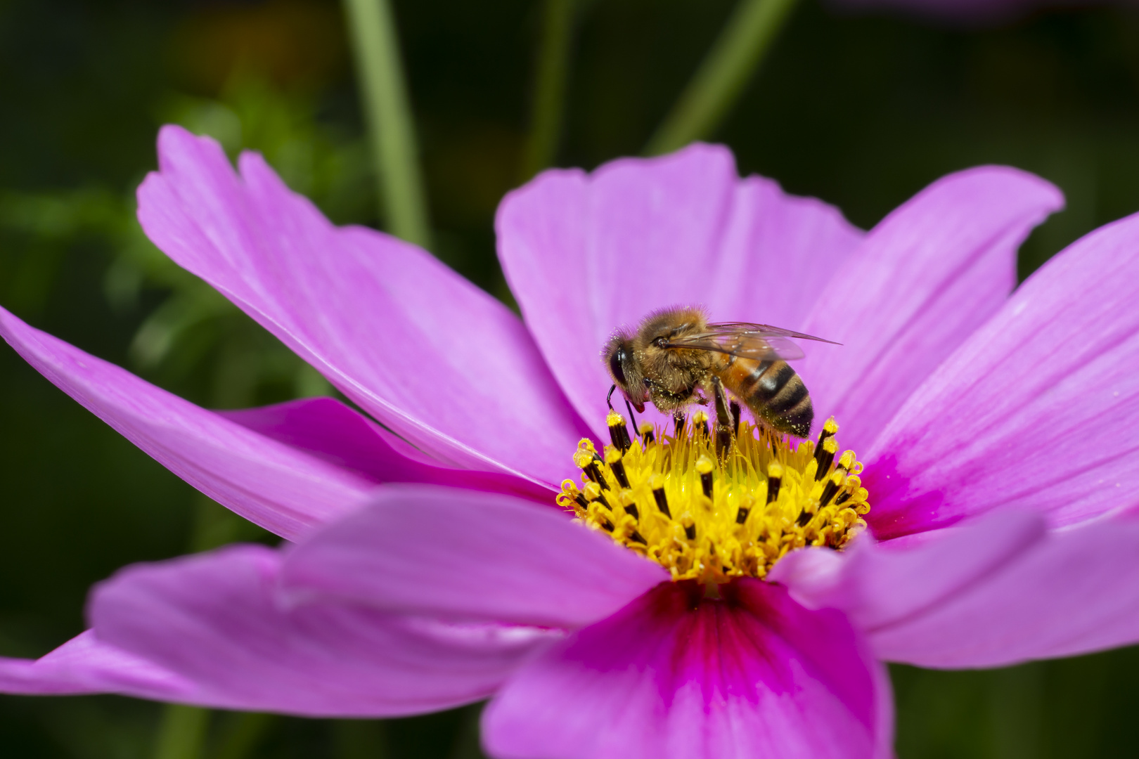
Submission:
M 344 0 L 388 230 L 428 247 L 429 226 L 411 106 L 388 0 Z

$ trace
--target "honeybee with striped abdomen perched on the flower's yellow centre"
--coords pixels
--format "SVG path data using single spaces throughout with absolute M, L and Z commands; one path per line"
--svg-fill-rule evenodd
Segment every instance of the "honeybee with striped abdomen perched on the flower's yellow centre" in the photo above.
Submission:
M 732 423 L 727 389 L 756 420 L 779 432 L 806 437 L 814 409 L 803 380 L 787 365 L 803 356 L 788 338 L 831 343 L 768 324 L 710 324 L 698 308 L 657 311 L 636 332 L 617 331 L 606 344 L 603 355 L 614 383 L 609 396 L 620 388 L 637 411 L 652 402 L 678 421 L 685 406 L 706 404 L 711 396 L 718 423 L 727 427 Z M 738 406 L 731 412 L 738 422 Z

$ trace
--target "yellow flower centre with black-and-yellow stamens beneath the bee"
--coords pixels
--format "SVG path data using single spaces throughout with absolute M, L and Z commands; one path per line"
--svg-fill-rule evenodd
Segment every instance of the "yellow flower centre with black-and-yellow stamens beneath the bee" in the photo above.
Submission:
M 853 451 L 838 454 L 838 424 L 795 442 L 740 421 L 727 436 L 707 414 L 630 437 L 621 414 L 606 419 L 612 445 L 582 439 L 573 454 L 581 484 L 565 480 L 558 505 L 588 527 L 659 563 L 674 580 L 707 587 L 764 577 L 795 548 L 841 551 L 870 511 Z M 719 431 L 719 430 L 718 430 Z

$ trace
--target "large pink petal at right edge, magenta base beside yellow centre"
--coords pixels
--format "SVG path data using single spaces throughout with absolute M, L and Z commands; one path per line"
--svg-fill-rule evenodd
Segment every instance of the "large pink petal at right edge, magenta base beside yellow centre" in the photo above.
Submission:
M 1073 244 L 913 394 L 868 453 L 879 538 L 997 506 L 1059 526 L 1136 505 L 1137 248 L 1139 216 Z

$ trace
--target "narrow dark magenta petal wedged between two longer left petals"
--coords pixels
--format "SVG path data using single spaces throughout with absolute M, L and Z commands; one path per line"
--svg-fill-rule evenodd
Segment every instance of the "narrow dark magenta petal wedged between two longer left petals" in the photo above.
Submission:
M 380 482 L 431 482 L 509 493 L 555 506 L 554 493 L 500 472 L 446 469 L 334 398 L 303 398 L 219 415 L 279 443 Z

